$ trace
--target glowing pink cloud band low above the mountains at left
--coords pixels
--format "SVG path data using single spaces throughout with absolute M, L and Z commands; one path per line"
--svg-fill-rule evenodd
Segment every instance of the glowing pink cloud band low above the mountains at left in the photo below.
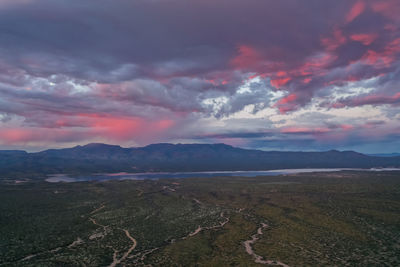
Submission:
M 0 129 L 0 142 L 18 144 L 63 140 L 104 139 L 146 142 L 165 134 L 175 122 L 171 119 L 146 120 L 139 117 L 104 114 L 76 114 L 56 121 L 58 128 L 14 127 Z

